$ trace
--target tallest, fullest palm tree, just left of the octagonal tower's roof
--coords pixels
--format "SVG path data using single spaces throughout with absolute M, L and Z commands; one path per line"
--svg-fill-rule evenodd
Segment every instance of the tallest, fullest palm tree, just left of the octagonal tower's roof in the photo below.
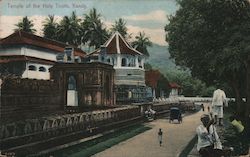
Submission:
M 81 23 L 81 40 L 83 43 L 87 43 L 89 47 L 99 48 L 109 38 L 110 34 L 104 28 L 100 18 L 101 14 L 98 14 L 95 8 L 91 9 L 89 14 L 84 15 L 84 20 Z

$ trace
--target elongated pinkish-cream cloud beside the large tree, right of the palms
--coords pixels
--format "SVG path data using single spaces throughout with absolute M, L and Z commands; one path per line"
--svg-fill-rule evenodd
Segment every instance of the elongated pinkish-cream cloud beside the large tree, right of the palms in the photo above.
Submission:
M 147 14 L 140 14 L 140 15 L 131 15 L 131 16 L 123 16 L 122 18 L 126 20 L 133 20 L 133 21 L 160 21 L 166 22 L 167 21 L 167 13 L 164 10 L 154 10 Z

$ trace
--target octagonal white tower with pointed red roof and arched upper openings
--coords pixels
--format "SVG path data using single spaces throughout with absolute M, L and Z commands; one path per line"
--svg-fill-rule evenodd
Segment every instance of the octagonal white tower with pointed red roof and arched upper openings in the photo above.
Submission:
M 118 103 L 144 101 L 145 58 L 145 55 L 129 45 L 119 32 L 114 33 L 100 49 L 86 56 L 89 62 L 101 61 L 113 65 Z

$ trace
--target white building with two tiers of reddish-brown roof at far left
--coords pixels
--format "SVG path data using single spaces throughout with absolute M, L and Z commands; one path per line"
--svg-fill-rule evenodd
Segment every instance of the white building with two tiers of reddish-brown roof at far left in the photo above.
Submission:
M 0 40 L 0 73 L 48 80 L 49 68 L 67 47 L 65 43 L 17 31 Z M 85 56 L 78 48 L 73 48 L 73 54 L 76 58 Z

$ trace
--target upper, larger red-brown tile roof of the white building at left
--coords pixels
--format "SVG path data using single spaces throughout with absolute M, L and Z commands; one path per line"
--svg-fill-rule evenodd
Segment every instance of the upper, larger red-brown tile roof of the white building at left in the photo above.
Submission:
M 62 42 L 47 39 L 23 31 L 16 31 L 13 34 L 9 35 L 8 37 L 1 39 L 0 44 L 1 45 L 27 44 L 27 45 L 47 48 L 57 52 L 64 52 L 64 48 L 70 46 Z M 76 56 L 81 56 L 81 57 L 84 57 L 86 55 L 86 53 L 79 48 L 74 48 L 74 53 Z

